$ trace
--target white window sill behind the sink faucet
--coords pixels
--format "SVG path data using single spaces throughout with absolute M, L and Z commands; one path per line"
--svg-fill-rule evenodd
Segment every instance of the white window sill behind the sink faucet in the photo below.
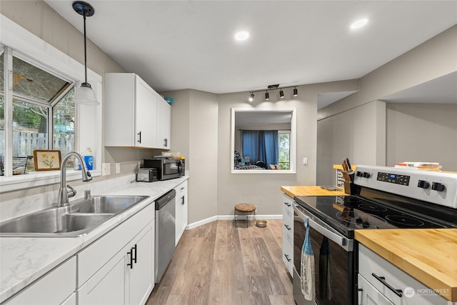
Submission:
M 101 176 L 101 171 L 91 171 L 91 176 Z M 66 171 L 66 181 L 75 181 L 78 179 L 81 179 L 81 171 L 75 171 L 74 169 L 68 169 Z M 19 189 L 29 189 L 31 187 L 56 183 L 60 183 L 60 171 L 53 171 L 52 173 L 34 172 L 12 177 L 0 177 L 0 194 L 7 191 L 17 191 Z

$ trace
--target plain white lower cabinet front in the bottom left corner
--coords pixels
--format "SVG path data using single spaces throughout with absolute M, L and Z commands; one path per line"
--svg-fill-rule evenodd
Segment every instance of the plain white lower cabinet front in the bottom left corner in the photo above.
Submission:
M 75 305 L 76 257 L 60 264 L 5 305 Z

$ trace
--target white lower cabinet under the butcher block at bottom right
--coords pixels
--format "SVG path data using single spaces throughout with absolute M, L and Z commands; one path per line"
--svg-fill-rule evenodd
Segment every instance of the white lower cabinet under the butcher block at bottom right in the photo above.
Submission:
M 358 304 L 452 304 L 433 289 L 366 248 L 358 247 Z

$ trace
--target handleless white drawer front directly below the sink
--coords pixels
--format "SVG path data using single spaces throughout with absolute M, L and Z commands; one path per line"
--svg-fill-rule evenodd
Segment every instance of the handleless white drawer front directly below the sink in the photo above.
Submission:
M 149 204 L 94 244 L 78 254 L 78 287 L 101 269 L 117 252 L 131 241 L 155 217 L 154 204 Z

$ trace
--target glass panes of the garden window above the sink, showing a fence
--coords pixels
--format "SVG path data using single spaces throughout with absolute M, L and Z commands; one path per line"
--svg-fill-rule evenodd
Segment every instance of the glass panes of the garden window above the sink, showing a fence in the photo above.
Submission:
M 8 51 L 6 46 L 2 49 L 0 175 L 27 174 L 34 171 L 35 149 L 59 149 L 62 155 L 74 151 L 75 106 L 72 99 L 75 81 L 23 54 Z M 12 73 L 5 76 L 4 64 L 10 61 Z M 9 77 L 8 81 L 5 81 L 6 77 Z M 5 84 L 12 88 L 10 97 L 5 95 Z M 5 108 L 7 99 L 11 99 L 11 107 Z M 11 109 L 11 130 L 4 124 L 5 109 Z M 12 139 L 11 150 L 5 149 L 6 134 Z M 6 154 L 11 154 L 11 159 L 5 158 Z M 11 172 L 5 171 L 8 167 L 4 166 L 9 160 L 12 160 Z

